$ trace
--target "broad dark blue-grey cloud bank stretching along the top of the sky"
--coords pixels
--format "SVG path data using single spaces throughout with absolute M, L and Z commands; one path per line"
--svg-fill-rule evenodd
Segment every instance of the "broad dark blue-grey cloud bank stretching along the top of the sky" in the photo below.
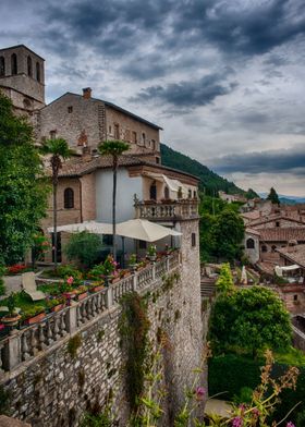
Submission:
M 270 51 L 305 32 L 302 0 L 249 2 L 247 8 L 240 1 L 220 0 L 50 1 L 40 13 L 46 33 L 56 29 L 70 47 L 88 44 L 114 58 L 143 56 L 139 47 L 152 37 L 157 39 L 155 54 L 158 49 L 195 49 L 208 42 L 230 54 L 251 56 Z M 52 48 L 61 52 L 60 44 L 52 44 Z M 279 60 L 273 57 L 273 62 Z M 154 70 L 160 75 L 158 66 L 151 69 L 141 71 L 139 64 L 139 70 L 134 68 L 134 77 L 146 74 L 150 78 Z

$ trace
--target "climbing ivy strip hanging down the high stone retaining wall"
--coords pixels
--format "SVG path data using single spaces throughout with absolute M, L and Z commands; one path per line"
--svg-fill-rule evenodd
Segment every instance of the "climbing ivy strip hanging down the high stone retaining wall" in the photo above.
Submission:
M 144 380 L 149 355 L 149 319 L 147 300 L 136 292 L 124 295 L 121 300 L 122 315 L 120 333 L 123 350 L 126 352 L 126 386 L 131 411 L 136 412 L 144 391 Z

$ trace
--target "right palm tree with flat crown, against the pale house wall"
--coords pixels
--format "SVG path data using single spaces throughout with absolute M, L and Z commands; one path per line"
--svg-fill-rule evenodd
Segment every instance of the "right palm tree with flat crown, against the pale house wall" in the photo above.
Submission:
M 113 234 L 113 259 L 117 260 L 117 230 L 115 230 L 115 198 L 117 198 L 117 173 L 119 167 L 119 157 L 130 149 L 130 145 L 123 141 L 106 141 L 98 146 L 101 156 L 112 157 L 112 171 L 113 171 L 113 188 L 112 188 L 112 234 Z

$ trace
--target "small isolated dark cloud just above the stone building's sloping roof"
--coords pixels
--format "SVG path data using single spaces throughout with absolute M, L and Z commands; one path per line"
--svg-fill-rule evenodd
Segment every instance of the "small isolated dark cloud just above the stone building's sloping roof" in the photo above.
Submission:
M 209 74 L 199 80 L 150 86 L 139 91 L 132 101 L 157 100 L 190 110 L 211 103 L 215 98 L 229 94 L 234 87 L 236 83 L 225 85 L 223 76 Z

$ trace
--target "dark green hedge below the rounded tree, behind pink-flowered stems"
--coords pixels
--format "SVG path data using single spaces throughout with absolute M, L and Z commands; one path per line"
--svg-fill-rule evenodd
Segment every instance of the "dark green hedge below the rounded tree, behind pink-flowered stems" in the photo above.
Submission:
M 264 364 L 264 359 L 253 361 L 233 354 L 211 358 L 208 376 L 209 395 L 212 396 L 225 391 L 219 399 L 233 400 L 234 395 L 240 395 L 243 387 L 255 389 L 260 382 L 260 367 Z M 289 365 L 276 363 L 272 376 L 278 378 L 288 367 Z M 279 422 L 296 403 L 302 402 L 289 416 L 289 420 L 293 422 L 296 427 L 304 427 L 304 425 L 297 426 L 296 417 L 300 412 L 305 411 L 305 366 L 297 366 L 297 368 L 300 375 L 296 390 L 285 390 L 281 393 L 281 403 L 278 404 L 272 418 Z

